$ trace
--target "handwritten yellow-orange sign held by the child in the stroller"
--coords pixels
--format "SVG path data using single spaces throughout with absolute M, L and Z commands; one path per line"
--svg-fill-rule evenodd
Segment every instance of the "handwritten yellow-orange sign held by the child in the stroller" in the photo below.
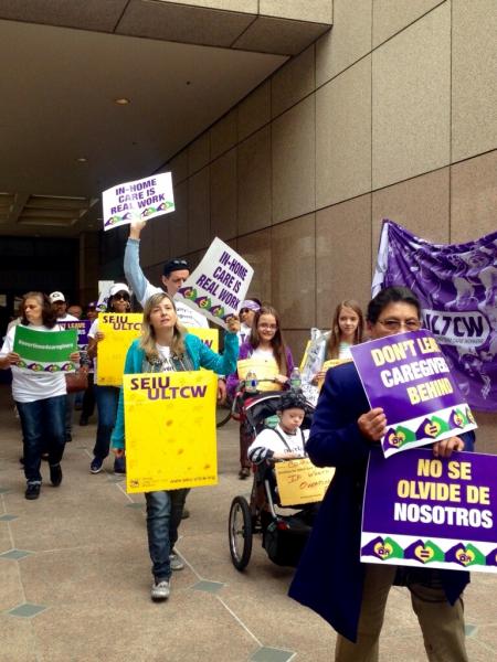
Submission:
M 282 505 L 322 501 L 335 476 L 334 467 L 315 467 L 309 458 L 284 460 L 274 467 Z

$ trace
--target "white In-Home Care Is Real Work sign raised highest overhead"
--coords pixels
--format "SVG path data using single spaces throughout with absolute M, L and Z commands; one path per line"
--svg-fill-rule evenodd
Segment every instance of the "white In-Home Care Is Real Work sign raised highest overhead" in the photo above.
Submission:
M 169 214 L 175 211 L 171 173 L 161 172 L 107 189 L 102 194 L 102 206 L 104 229 Z

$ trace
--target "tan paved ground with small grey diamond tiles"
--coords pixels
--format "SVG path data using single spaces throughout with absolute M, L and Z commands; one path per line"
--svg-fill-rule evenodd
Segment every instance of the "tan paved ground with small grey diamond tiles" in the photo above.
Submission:
M 112 472 L 88 472 L 95 425 L 74 426 L 60 488 L 24 499 L 20 435 L 0 386 L 0 662 L 329 662 L 334 631 L 286 597 L 292 569 L 260 541 L 245 573 L 228 548 L 228 513 L 250 491 L 236 478 L 237 435 L 219 435 L 220 480 L 189 496 L 168 602 L 149 598 L 144 499 Z M 44 466 L 44 473 L 47 468 Z M 497 659 L 497 576 L 474 574 L 466 595 L 472 662 Z M 405 589 L 392 589 L 383 660 L 425 660 Z M 451 662 L 451 661 L 447 661 Z

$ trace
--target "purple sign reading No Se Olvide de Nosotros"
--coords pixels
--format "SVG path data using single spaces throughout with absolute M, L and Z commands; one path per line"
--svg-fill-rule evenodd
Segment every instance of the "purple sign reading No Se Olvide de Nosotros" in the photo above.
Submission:
M 361 560 L 497 573 L 497 457 L 369 459 Z

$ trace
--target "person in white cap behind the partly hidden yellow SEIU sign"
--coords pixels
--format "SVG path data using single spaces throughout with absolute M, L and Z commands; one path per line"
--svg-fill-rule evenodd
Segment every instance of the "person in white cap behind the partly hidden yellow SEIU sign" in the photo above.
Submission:
M 131 295 L 125 282 L 115 282 L 109 290 L 107 312 L 129 312 L 131 309 Z M 104 460 L 108 456 L 110 435 L 116 423 L 117 404 L 119 402 L 119 388 L 117 386 L 98 386 L 97 382 L 97 355 L 98 348 L 105 342 L 105 334 L 98 330 L 98 318 L 93 322 L 88 331 L 88 357 L 93 361 L 95 372 L 95 401 L 98 412 L 98 425 L 95 446 L 93 448 L 93 460 L 89 465 L 91 473 L 99 473 Z M 83 423 L 84 425 L 84 423 Z M 126 473 L 124 457 L 114 460 L 114 473 Z

